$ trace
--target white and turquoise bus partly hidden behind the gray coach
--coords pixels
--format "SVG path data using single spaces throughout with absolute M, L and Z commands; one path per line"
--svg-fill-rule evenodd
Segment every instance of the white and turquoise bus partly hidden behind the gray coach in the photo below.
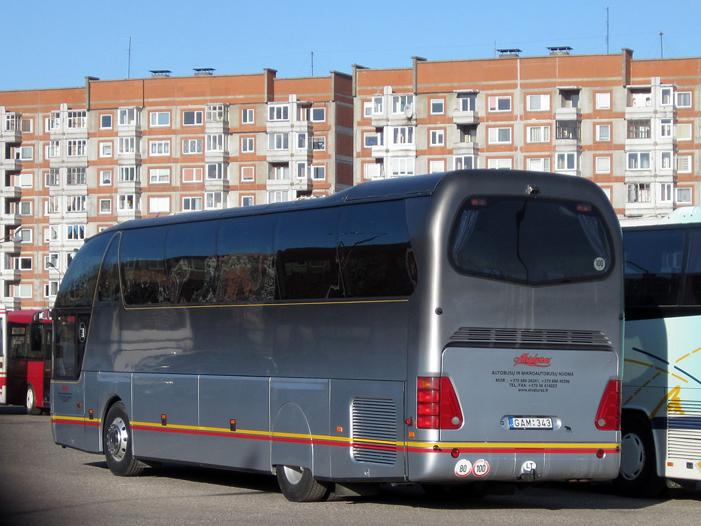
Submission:
M 667 480 L 701 480 L 701 208 L 679 208 L 653 223 L 623 227 L 623 437 L 615 482 L 640 497 L 660 494 Z

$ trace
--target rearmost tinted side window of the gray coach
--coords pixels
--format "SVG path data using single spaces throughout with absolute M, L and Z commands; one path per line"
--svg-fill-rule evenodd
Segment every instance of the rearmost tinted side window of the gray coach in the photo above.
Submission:
M 339 258 L 346 297 L 414 292 L 416 262 L 404 201 L 341 207 Z

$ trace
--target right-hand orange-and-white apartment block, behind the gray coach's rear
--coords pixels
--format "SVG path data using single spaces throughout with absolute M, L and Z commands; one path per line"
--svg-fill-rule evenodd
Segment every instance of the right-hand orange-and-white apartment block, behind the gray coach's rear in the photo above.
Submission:
M 354 182 L 519 168 L 589 177 L 622 216 L 699 204 L 701 58 L 519 53 L 354 65 Z

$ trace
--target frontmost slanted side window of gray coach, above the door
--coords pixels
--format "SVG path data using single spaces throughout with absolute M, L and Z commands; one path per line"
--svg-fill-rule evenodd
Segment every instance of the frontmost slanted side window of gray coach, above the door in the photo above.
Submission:
M 58 291 L 54 307 L 92 306 L 102 256 L 110 236 L 95 236 L 73 258 Z

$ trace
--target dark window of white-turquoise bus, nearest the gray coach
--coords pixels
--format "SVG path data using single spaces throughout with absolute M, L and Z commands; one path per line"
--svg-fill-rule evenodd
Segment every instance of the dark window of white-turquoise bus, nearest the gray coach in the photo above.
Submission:
M 625 231 L 626 306 L 679 304 L 686 232 Z

